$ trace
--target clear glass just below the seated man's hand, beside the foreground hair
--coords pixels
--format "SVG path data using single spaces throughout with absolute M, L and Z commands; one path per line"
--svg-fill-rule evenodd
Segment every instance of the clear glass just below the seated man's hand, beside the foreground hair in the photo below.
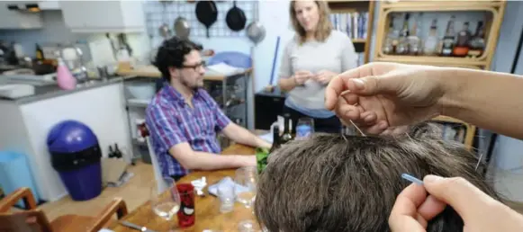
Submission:
M 256 196 L 257 168 L 256 166 L 244 166 L 236 170 L 234 177 L 234 194 L 237 201 L 250 208 Z

